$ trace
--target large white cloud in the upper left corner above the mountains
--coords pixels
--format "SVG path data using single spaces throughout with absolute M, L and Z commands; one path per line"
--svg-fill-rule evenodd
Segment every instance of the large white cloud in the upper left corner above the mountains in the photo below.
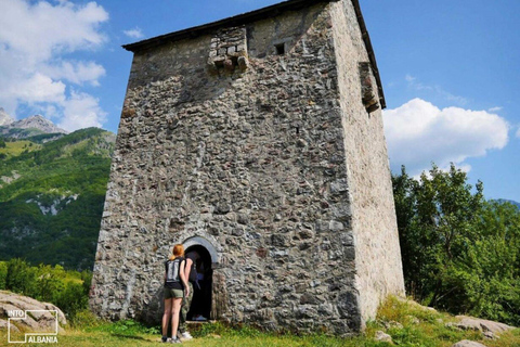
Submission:
M 103 66 L 70 56 L 106 42 L 100 25 L 107 12 L 95 2 L 67 0 L 0 0 L 0 106 L 12 115 L 26 105 L 66 117 L 77 98 L 69 83 L 98 86 L 105 75 Z

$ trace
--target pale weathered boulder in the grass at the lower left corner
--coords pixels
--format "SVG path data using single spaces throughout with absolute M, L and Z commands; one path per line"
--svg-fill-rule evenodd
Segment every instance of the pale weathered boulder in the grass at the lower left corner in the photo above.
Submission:
M 0 291 L 0 330 L 8 329 L 8 320 L 10 318 L 16 318 L 11 320 L 11 331 L 29 331 L 29 332 L 52 332 L 55 330 L 55 316 L 48 311 L 57 312 L 58 331 L 63 331 L 63 325 L 67 324 L 65 314 L 60 308 L 52 304 L 40 303 L 34 298 L 14 294 L 6 291 Z M 28 311 L 24 319 L 15 311 Z

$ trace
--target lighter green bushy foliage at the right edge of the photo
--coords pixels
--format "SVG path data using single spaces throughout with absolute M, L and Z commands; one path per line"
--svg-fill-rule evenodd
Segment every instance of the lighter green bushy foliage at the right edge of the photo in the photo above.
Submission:
M 520 324 L 520 211 L 509 203 L 487 202 L 476 239 L 454 262 L 444 285 L 461 288 L 450 306 L 478 317 Z

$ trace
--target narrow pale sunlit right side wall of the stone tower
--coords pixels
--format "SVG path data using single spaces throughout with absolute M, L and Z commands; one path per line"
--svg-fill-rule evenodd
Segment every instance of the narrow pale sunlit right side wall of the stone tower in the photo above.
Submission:
M 404 295 L 404 279 L 381 108 L 372 108 L 373 101 L 362 102 L 366 93 L 360 89 L 360 75 L 364 77 L 369 59 L 360 27 L 351 20 L 354 15 L 350 1 L 332 4 L 347 175 L 354 216 L 355 283 L 363 321 L 366 321 L 375 317 L 387 295 Z M 360 74 L 352 74 L 353 70 Z M 375 79 L 370 80 L 372 91 L 377 93 Z

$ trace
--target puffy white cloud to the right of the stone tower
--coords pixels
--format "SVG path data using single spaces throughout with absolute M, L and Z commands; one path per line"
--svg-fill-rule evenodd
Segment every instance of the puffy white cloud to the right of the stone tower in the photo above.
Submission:
M 386 110 L 385 134 L 393 171 L 405 165 L 415 176 L 431 168 L 464 163 L 469 157 L 483 156 L 490 150 L 503 149 L 508 141 L 509 125 L 496 114 L 460 107 L 440 110 L 421 99 Z

